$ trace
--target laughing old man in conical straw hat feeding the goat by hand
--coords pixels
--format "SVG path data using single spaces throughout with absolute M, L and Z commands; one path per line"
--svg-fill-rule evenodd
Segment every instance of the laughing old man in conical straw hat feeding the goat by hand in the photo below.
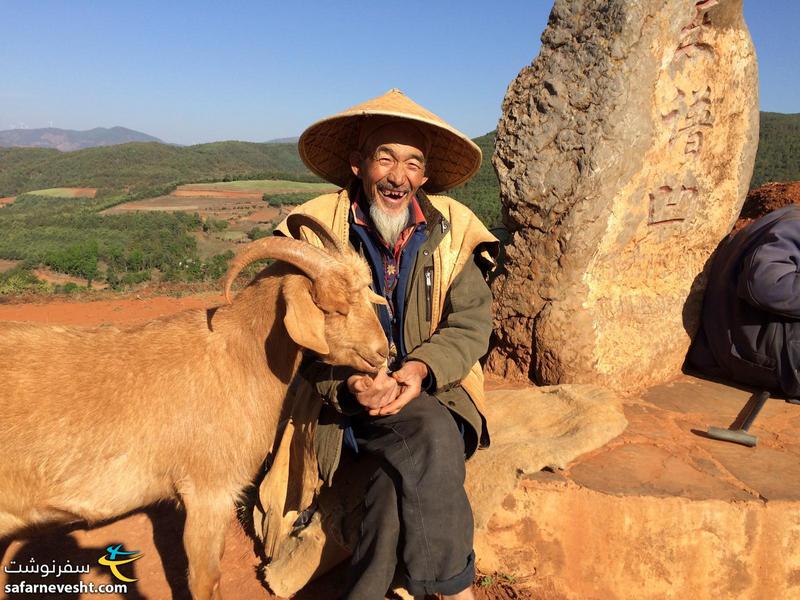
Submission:
M 345 597 L 383 598 L 397 572 L 415 595 L 472 598 L 464 460 L 488 444 L 477 361 L 491 333 L 485 276 L 497 241 L 468 208 L 426 191 L 467 181 L 480 149 L 398 90 L 315 123 L 299 149 L 342 190 L 296 211 L 360 252 L 387 300 L 379 317 L 388 369 L 302 370 L 336 411 L 325 419 L 339 437 L 335 456 L 318 457 L 323 476 L 338 464 L 342 437 L 377 459 Z M 278 232 L 288 234 L 285 223 Z

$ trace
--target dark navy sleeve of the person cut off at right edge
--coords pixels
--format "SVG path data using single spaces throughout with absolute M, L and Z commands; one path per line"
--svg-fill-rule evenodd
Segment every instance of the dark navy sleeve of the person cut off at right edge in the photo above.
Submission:
M 745 256 L 737 293 L 756 308 L 800 318 L 800 224 L 774 228 Z

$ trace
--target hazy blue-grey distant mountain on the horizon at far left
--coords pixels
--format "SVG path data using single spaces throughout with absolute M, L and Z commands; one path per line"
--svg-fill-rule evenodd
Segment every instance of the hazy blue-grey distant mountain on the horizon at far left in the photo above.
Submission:
M 95 127 L 88 131 L 73 129 L 8 129 L 0 131 L 0 147 L 4 148 L 55 148 L 62 152 L 95 148 L 97 146 L 115 146 L 128 142 L 158 142 L 160 139 L 126 129 L 125 127 Z

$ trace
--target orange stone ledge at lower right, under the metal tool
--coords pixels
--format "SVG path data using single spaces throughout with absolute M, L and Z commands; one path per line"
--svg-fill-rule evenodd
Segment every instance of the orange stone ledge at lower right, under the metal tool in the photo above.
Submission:
M 698 435 L 750 394 L 681 376 L 628 399 L 622 435 L 505 496 L 481 568 L 546 597 L 800 597 L 800 406 L 770 399 L 756 448 Z

